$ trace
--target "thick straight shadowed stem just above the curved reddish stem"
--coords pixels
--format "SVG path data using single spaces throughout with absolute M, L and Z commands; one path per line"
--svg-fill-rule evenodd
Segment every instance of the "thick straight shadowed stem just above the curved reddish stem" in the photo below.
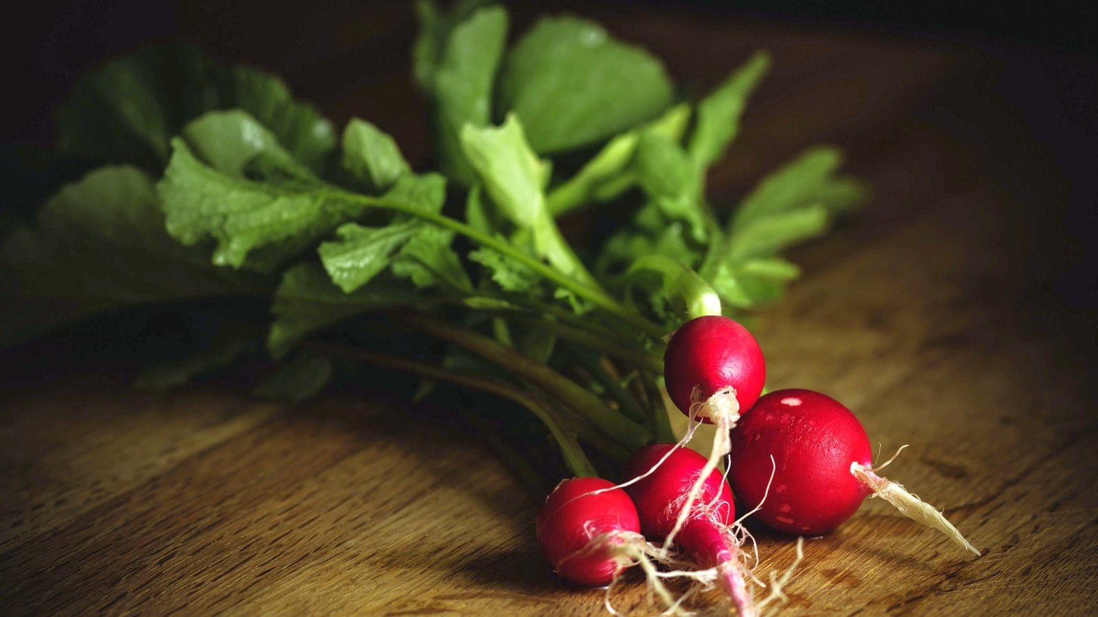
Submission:
M 565 405 L 591 419 L 600 430 L 628 450 L 638 450 L 652 440 L 643 426 L 618 414 L 596 395 L 541 362 L 486 336 L 422 315 L 397 315 L 396 319 L 429 335 L 449 340 L 545 389 Z

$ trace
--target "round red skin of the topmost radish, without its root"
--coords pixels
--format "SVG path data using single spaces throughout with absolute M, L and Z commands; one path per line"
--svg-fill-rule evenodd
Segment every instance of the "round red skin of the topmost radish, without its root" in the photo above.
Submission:
M 702 388 L 702 400 L 731 385 L 742 413 L 759 400 L 766 364 L 747 328 L 735 319 L 708 315 L 675 330 L 663 354 L 663 378 L 671 401 L 686 415 L 696 385 Z

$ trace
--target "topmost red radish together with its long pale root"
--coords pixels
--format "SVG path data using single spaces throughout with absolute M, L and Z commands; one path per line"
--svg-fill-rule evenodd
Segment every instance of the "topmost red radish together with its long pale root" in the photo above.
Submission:
M 680 441 L 693 435 L 695 422 L 713 423 L 717 430 L 705 467 L 687 492 L 675 525 L 668 530 L 665 546 L 686 524 L 691 505 L 697 500 L 703 479 L 717 469 L 717 462 L 731 446 L 729 431 L 759 399 L 766 380 L 762 350 L 751 333 L 733 319 L 705 315 L 683 324 L 671 336 L 663 355 L 663 378 L 668 395 L 691 418 L 692 428 Z

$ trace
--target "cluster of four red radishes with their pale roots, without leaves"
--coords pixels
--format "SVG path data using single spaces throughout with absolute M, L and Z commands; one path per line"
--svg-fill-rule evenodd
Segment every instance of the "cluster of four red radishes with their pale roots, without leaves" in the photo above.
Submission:
M 739 615 L 757 614 L 733 493 L 755 520 L 798 536 L 826 534 L 866 497 L 879 496 L 979 554 L 940 512 L 876 474 L 865 429 L 841 403 L 798 389 L 760 397 L 762 352 L 733 319 L 687 322 L 669 340 L 664 367 L 668 394 L 691 419 L 684 438 L 639 450 L 621 484 L 562 482 L 538 516 L 542 551 L 564 579 L 607 585 L 640 564 L 666 613 L 677 612 L 684 597 L 673 598 L 661 580 L 688 576 L 722 588 Z M 708 458 L 684 448 L 699 423 L 717 426 Z M 613 612 L 608 601 L 607 608 Z

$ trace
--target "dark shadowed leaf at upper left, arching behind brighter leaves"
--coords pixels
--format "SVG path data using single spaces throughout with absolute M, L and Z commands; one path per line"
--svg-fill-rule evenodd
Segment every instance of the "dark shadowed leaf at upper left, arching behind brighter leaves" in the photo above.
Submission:
M 242 109 L 304 165 L 335 146 L 332 125 L 278 78 L 214 63 L 197 49 L 145 47 L 82 77 L 57 110 L 60 148 L 100 162 L 164 168 L 170 139 L 208 111 Z

